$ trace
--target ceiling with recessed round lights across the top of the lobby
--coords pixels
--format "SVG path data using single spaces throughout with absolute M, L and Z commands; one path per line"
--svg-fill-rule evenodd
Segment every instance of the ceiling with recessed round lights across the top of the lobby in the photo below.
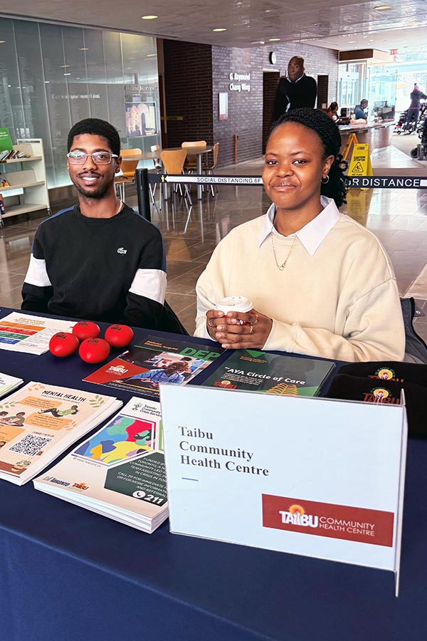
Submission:
M 388 1 L 388 11 L 376 11 L 381 0 L 300 0 L 292 6 L 289 0 L 123 0 L 120 4 L 112 0 L 32 0 L 31 4 L 14 0 L 11 14 L 10 0 L 0 0 L 0 13 L 229 47 L 250 47 L 278 37 L 342 50 L 349 48 L 348 40 L 356 40 L 359 48 L 371 36 L 375 47 L 384 51 L 396 48 L 398 41 L 398 46 L 423 46 L 427 42 L 427 0 Z M 159 17 L 142 20 L 147 14 Z M 218 27 L 227 31 L 214 33 Z

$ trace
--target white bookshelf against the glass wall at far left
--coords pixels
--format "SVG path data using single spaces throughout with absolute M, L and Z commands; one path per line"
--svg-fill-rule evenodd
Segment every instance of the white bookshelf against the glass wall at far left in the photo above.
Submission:
M 14 149 L 25 152 L 28 158 L 0 162 L 0 172 L 5 175 L 10 185 L 10 187 L 0 187 L 6 209 L 6 213 L 1 218 L 31 214 L 40 209 L 47 209 L 50 214 L 43 140 L 21 138 L 16 141 Z M 9 165 L 18 165 L 18 170 L 8 172 Z M 19 194 L 16 194 L 17 190 Z

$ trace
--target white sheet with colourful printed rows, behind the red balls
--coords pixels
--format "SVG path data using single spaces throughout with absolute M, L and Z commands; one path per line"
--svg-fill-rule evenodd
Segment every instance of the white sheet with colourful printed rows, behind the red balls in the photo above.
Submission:
M 0 318 L 0 349 L 28 354 L 44 354 L 57 332 L 70 332 L 75 320 L 57 320 L 12 312 Z

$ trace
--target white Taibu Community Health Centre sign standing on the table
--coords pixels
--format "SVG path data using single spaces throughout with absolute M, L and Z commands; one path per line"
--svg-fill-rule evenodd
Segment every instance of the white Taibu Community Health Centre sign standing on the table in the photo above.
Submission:
M 392 570 L 404 405 L 160 385 L 171 531 Z

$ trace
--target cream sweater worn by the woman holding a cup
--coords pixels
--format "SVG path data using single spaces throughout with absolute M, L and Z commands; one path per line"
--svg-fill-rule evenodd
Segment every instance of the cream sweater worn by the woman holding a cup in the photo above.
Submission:
M 396 278 L 374 234 L 345 214 L 310 256 L 298 238 L 259 246 L 264 217 L 233 229 L 196 285 L 195 336 L 209 338 L 206 311 L 223 296 L 246 296 L 273 318 L 263 346 L 347 361 L 402 360 L 405 334 Z

